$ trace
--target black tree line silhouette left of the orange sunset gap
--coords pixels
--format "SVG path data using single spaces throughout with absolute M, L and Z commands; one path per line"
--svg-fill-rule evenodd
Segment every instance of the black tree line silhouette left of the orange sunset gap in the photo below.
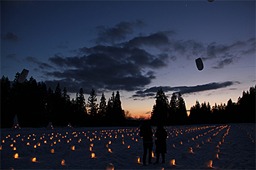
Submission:
M 19 75 L 16 73 L 12 85 L 8 77 L 1 78 L 1 128 L 11 128 L 15 115 L 23 128 L 46 127 L 49 122 L 60 127 L 68 123 L 76 127 L 125 125 L 119 91 L 113 92 L 107 102 L 102 93 L 98 105 L 94 89 L 86 103 L 80 88 L 75 99 L 70 101 L 68 91 L 65 87 L 61 91 L 60 84 L 55 91 L 47 89 L 44 82 L 37 83 L 33 77 L 20 84 Z

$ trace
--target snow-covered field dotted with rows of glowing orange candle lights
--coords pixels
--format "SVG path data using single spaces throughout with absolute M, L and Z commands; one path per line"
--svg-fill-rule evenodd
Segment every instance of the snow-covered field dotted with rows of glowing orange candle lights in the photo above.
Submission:
M 146 166 L 139 128 L 1 129 L 1 169 L 255 169 L 255 124 L 165 128 L 166 163 Z

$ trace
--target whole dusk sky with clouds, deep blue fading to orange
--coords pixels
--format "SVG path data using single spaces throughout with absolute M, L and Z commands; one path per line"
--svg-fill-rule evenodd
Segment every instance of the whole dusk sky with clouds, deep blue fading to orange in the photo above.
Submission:
M 134 116 L 160 88 L 187 110 L 237 102 L 256 84 L 255 1 L 1 1 L 1 77 L 22 69 L 86 102 L 119 91 Z

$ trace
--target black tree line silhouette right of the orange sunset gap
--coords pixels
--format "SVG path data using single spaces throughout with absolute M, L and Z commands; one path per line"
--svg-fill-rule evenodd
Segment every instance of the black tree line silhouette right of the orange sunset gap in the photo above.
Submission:
M 189 116 L 186 113 L 186 105 L 181 94 L 173 94 L 169 103 L 164 91 L 159 89 L 156 93 L 156 103 L 151 112 L 153 125 L 200 125 L 200 124 L 225 124 L 225 123 L 255 123 L 255 87 L 242 92 L 242 97 L 235 103 L 228 100 L 227 104 L 210 106 L 206 101 L 199 103 L 190 109 Z

